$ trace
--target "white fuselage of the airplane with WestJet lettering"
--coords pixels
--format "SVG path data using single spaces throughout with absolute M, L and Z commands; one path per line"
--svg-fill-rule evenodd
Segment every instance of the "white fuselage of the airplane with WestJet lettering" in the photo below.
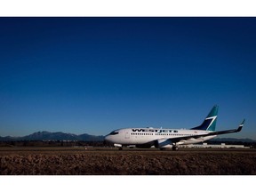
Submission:
M 124 128 L 114 131 L 115 134 L 108 134 L 105 140 L 121 144 L 121 145 L 143 145 L 154 140 L 167 140 L 173 138 L 181 138 L 186 136 L 196 136 L 207 134 L 209 131 L 202 130 L 186 130 L 186 129 L 160 129 L 160 128 Z M 197 139 L 190 138 L 188 140 L 180 140 L 177 145 L 187 145 L 204 140 L 210 140 L 216 135 L 199 137 Z

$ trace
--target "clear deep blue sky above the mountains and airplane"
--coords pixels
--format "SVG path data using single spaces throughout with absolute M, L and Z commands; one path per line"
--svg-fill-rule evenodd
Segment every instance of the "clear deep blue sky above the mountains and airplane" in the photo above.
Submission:
M 0 18 L 0 136 L 190 128 L 256 140 L 256 18 Z

